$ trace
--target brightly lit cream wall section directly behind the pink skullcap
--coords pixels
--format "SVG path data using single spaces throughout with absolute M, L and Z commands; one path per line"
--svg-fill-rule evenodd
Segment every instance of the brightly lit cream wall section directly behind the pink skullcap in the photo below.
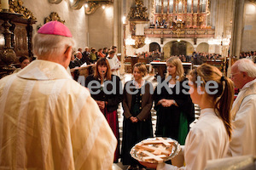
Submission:
M 59 4 L 51 4 L 46 0 L 22 0 L 23 6 L 32 11 L 32 14 L 37 18 L 38 22 L 33 26 L 33 33 L 37 30 L 38 25 L 44 25 L 44 18 L 48 17 L 50 13 L 56 12 L 59 14 L 61 20 L 65 20 L 65 25 L 71 31 L 75 41 L 76 47 L 83 48 L 87 45 L 87 27 L 84 8 L 74 10 L 69 7 L 68 1 L 61 1 Z

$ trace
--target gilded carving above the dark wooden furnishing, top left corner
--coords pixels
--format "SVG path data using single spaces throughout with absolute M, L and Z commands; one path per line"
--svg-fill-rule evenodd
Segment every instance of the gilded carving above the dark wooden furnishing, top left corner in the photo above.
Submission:
M 23 2 L 21 0 L 9 0 L 9 12 L 22 14 L 25 19 L 37 20 L 32 12 L 22 5 Z

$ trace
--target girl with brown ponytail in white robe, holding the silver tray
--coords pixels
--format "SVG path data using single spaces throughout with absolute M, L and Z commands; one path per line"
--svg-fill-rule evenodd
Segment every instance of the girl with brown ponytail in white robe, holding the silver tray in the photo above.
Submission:
M 209 87 L 209 81 L 216 83 L 215 88 Z M 203 64 L 190 72 L 189 86 L 190 97 L 193 103 L 200 105 L 201 115 L 189 130 L 181 152 L 172 159 L 172 165 L 160 163 L 158 170 L 203 170 L 208 160 L 223 158 L 227 153 L 231 138 L 230 110 L 234 99 L 232 81 L 222 77 L 217 67 Z M 154 167 L 152 164 L 144 165 Z

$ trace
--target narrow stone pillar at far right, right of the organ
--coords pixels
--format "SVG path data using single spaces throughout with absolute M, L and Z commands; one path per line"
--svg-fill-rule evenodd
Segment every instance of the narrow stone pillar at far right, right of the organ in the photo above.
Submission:
M 239 57 L 241 37 L 244 26 L 244 0 L 235 0 L 233 11 L 232 37 L 230 42 L 230 56 Z M 230 59 L 231 60 L 231 59 Z

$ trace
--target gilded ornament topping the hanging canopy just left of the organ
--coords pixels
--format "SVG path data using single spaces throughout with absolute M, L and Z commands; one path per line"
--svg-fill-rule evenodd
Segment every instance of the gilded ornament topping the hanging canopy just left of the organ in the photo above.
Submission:
M 135 0 L 135 7 L 130 8 L 127 19 L 130 21 L 148 21 L 148 8 L 143 7 L 142 0 Z

